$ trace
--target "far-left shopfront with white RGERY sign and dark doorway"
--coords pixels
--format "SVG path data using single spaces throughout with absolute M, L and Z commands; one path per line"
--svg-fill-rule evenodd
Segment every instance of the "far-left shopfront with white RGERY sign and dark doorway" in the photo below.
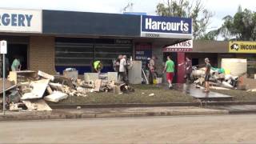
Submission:
M 30 34 L 42 34 L 42 10 L 0 9 L 0 39 L 7 41 L 7 61 L 18 58 L 28 69 Z

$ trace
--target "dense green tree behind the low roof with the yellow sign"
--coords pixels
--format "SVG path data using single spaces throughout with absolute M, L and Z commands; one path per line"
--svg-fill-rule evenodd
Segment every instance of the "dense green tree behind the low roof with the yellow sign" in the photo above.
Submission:
M 251 10 L 242 10 L 238 6 L 238 11 L 234 16 L 227 15 L 223 18 L 223 24 L 218 30 L 214 30 L 215 37 L 221 35 L 225 40 L 256 40 L 256 13 Z M 212 31 L 210 31 L 212 32 Z

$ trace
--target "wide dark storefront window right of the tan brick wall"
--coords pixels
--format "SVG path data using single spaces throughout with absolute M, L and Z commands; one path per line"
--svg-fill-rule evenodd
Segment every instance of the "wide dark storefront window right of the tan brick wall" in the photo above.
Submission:
M 119 54 L 132 55 L 131 40 L 107 38 L 56 38 L 55 67 L 62 72 L 65 67 L 74 67 L 79 73 L 89 72 L 94 60 L 104 65 L 104 72 L 113 71 L 113 60 Z

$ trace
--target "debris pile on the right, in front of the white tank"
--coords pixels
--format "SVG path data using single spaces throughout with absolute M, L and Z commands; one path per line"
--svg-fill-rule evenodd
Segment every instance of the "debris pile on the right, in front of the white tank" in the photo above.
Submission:
M 197 86 L 204 86 L 206 68 L 198 69 L 193 66 L 190 75 L 192 82 Z M 210 89 L 214 90 L 230 90 L 230 89 L 246 89 L 239 81 L 241 76 L 226 74 L 224 69 L 212 68 L 210 70 Z M 243 88 L 242 88 L 243 87 Z

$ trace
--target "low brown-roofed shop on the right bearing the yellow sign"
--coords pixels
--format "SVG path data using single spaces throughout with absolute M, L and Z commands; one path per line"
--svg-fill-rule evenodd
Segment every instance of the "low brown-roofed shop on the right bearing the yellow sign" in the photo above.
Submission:
M 193 50 L 186 52 L 193 66 L 204 66 L 204 58 L 209 58 L 214 67 L 222 67 L 222 58 L 246 59 L 247 76 L 254 78 L 256 73 L 256 42 L 194 41 Z

